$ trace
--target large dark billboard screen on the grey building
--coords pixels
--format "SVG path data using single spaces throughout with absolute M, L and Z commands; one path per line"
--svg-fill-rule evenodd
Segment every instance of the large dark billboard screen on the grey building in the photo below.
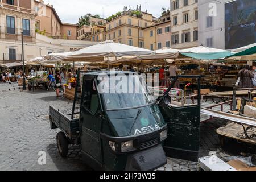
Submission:
M 256 0 L 225 4 L 225 49 L 256 43 Z

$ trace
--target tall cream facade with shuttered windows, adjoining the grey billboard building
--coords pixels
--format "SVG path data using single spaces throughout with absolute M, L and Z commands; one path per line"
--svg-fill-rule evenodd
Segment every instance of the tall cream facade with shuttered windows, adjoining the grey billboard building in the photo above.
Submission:
M 197 0 L 171 0 L 171 48 L 199 46 Z

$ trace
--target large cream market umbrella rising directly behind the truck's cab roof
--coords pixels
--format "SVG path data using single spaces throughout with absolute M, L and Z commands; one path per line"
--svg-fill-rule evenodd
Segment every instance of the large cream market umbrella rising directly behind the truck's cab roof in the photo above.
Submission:
M 126 44 L 114 43 L 112 40 L 101 42 L 94 46 L 86 47 L 68 56 L 64 56 L 64 61 L 95 61 L 104 60 L 104 57 L 122 57 L 138 55 L 155 55 L 154 51 L 148 49 L 128 46 Z

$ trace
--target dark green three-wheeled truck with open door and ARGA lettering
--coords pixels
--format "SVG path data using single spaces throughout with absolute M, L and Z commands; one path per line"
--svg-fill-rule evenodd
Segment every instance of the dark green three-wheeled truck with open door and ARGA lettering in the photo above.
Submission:
M 137 73 L 115 73 L 122 73 L 127 88 L 138 87 Z M 69 144 L 80 145 L 82 160 L 89 167 L 114 171 L 154 170 L 166 164 L 166 156 L 197 161 L 200 93 L 196 105 L 171 107 L 168 93 L 178 77 L 158 101 L 147 91 L 113 92 L 110 77 L 110 72 L 79 71 L 72 114 L 50 106 L 51 129 L 62 130 L 57 133 L 61 156 L 67 156 Z M 180 77 L 195 77 L 200 83 L 198 76 Z

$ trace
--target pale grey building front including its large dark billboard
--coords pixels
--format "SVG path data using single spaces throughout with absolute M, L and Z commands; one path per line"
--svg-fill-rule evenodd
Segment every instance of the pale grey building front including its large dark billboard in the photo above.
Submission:
M 199 1 L 199 43 L 235 49 L 256 42 L 256 1 Z

